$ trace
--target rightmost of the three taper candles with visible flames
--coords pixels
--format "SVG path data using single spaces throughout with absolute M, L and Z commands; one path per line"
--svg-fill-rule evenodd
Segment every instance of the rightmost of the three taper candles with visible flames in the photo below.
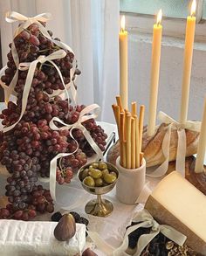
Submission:
M 182 71 L 182 100 L 180 122 L 185 123 L 188 118 L 189 107 L 189 86 L 192 68 L 193 45 L 196 31 L 196 0 L 191 5 L 190 16 L 187 18 L 185 47 L 184 47 L 184 63 Z

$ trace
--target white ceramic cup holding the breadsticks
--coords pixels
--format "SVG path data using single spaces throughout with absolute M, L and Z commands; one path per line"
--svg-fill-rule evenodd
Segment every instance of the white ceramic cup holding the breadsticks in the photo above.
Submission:
M 120 165 L 120 156 L 116 160 L 119 179 L 116 184 L 116 196 L 121 203 L 137 204 L 137 199 L 145 185 L 146 161 L 143 158 L 141 167 L 126 169 Z

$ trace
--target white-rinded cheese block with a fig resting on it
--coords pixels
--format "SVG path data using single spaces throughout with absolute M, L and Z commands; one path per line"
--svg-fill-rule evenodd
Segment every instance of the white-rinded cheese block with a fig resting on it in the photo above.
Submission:
M 77 224 L 76 233 L 65 242 L 54 238 L 57 222 L 0 220 L 0 255 L 77 256 L 86 244 L 86 225 Z

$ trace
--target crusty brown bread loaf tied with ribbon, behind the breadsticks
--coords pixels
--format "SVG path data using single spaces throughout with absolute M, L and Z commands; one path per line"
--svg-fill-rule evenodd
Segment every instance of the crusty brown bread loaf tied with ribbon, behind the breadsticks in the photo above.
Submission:
M 167 130 L 168 124 L 161 123 L 161 125 L 156 129 L 155 134 L 153 136 L 148 136 L 147 127 L 144 128 L 141 150 L 144 152 L 147 167 L 159 165 L 164 162 L 165 158 L 162 154 L 161 146 Z M 188 129 L 185 129 L 185 133 L 187 138 L 186 156 L 192 156 L 196 154 L 197 151 L 199 133 Z M 169 145 L 169 161 L 175 161 L 176 159 L 177 142 L 177 128 L 173 127 L 171 130 Z M 108 151 L 107 162 L 115 164 L 119 155 L 119 142 L 116 142 Z

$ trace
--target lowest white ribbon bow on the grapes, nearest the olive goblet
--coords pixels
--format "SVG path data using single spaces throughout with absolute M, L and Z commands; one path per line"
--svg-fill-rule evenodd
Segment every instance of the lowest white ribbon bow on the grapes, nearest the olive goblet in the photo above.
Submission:
M 90 114 L 92 111 L 94 111 L 94 113 Z M 90 106 L 87 106 L 80 112 L 79 120 L 73 124 L 66 124 L 64 121 L 61 121 L 58 117 L 53 117 L 52 120 L 50 121 L 50 128 L 52 128 L 53 130 L 68 129 L 70 131 L 70 135 L 71 135 L 72 139 L 75 142 L 77 142 L 77 141 L 72 136 L 72 130 L 74 128 L 80 129 L 83 132 L 83 134 L 85 135 L 86 141 L 89 142 L 90 146 L 96 152 L 96 154 L 97 154 L 96 159 L 97 160 L 100 158 L 103 159 L 102 151 L 100 150 L 100 148 L 98 147 L 96 142 L 93 141 L 92 136 L 90 135 L 90 133 L 86 130 L 86 128 L 82 124 L 84 121 L 97 118 L 99 111 L 100 111 L 100 107 L 97 104 L 92 104 Z M 58 128 L 56 126 L 55 122 L 58 122 L 58 124 L 61 124 L 62 127 Z M 79 149 L 79 144 L 77 142 L 77 149 L 75 151 L 73 151 L 72 153 L 60 153 L 57 156 L 55 156 L 50 163 L 50 192 L 51 192 L 52 199 L 55 202 L 57 202 L 57 200 L 56 200 L 56 172 L 57 172 L 58 159 L 61 157 L 70 156 L 70 155 L 74 154 L 78 149 Z M 64 206 L 61 208 L 67 209 L 67 206 Z M 74 207 L 70 205 L 70 208 L 74 208 Z

